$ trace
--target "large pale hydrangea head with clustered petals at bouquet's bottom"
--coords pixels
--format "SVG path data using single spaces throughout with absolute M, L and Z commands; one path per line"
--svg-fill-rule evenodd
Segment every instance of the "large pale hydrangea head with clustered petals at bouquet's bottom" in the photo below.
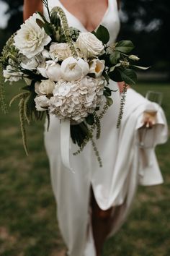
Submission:
M 103 101 L 104 85 L 103 77 L 85 76 L 71 82 L 59 80 L 49 101 L 49 111 L 59 119 L 83 121 Z

